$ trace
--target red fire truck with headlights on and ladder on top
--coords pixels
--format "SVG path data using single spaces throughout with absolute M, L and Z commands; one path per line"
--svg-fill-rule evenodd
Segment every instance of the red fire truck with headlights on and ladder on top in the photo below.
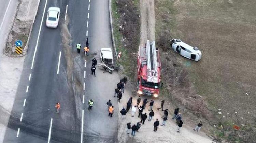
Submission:
M 137 59 L 138 94 L 158 97 L 160 87 L 161 63 L 155 41 L 147 40 L 144 47 L 139 47 Z

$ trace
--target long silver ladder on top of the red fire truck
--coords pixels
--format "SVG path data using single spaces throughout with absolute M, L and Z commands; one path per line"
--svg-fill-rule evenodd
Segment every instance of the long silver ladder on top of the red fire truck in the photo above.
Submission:
M 147 50 L 147 74 L 148 81 L 157 83 L 158 74 L 157 74 L 157 59 L 156 59 L 156 46 L 155 41 L 150 42 L 147 40 L 146 45 Z

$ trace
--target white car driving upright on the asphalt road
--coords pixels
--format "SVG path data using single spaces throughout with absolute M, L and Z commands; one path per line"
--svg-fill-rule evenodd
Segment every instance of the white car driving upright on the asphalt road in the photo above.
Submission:
M 49 28 L 56 28 L 59 24 L 59 7 L 50 7 L 47 11 L 46 26 Z

